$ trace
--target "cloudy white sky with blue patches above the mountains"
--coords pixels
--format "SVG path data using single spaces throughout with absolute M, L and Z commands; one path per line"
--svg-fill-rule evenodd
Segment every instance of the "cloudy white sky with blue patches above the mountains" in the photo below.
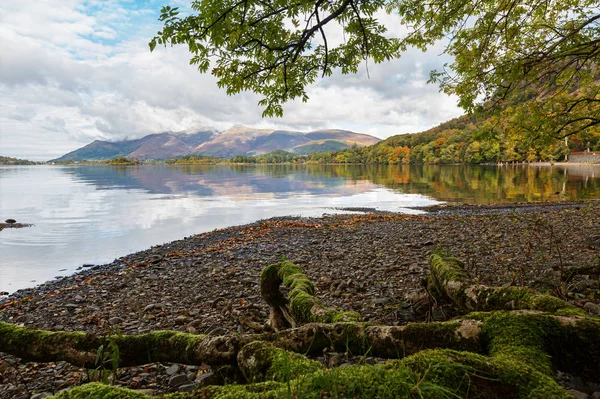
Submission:
M 457 99 L 427 84 L 447 57 L 437 46 L 398 60 L 334 74 L 308 88 L 307 103 L 262 118 L 254 93 L 227 96 L 189 65 L 186 48 L 148 48 L 164 5 L 185 0 L 2 0 L 0 155 L 48 160 L 93 140 L 165 131 L 225 130 L 236 124 L 298 131 L 345 129 L 386 138 L 462 114 Z M 391 35 L 403 28 L 382 14 Z M 341 40 L 335 27 L 331 40 Z

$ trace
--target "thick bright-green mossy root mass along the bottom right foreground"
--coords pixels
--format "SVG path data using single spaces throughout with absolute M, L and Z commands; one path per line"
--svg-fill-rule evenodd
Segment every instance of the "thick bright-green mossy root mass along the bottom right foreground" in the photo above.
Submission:
M 565 357 L 574 359 L 573 354 L 586 351 L 588 359 L 583 363 L 560 366 L 582 376 L 600 372 L 598 321 L 504 311 L 476 313 L 463 320 L 477 322 L 473 333 L 486 343 L 483 353 L 428 349 L 385 364 L 327 369 L 304 355 L 267 342 L 252 342 L 237 357 L 251 383 L 210 386 L 191 394 L 165 397 L 571 398 L 552 378 L 557 362 L 564 362 Z M 101 394 L 94 397 L 98 399 L 139 398 L 133 392 L 126 396 L 130 391 L 119 388 L 97 388 Z M 110 389 L 119 396 L 108 396 Z M 81 396 L 77 396 L 79 391 Z M 78 387 L 58 398 L 79 399 L 92 391 L 89 386 Z

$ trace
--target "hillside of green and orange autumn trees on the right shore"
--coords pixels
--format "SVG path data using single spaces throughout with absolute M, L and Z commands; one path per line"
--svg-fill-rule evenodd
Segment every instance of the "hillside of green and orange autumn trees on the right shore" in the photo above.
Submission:
M 507 126 L 508 125 L 508 126 Z M 565 141 L 528 138 L 502 115 L 463 115 L 421 133 L 400 134 L 363 148 L 308 156 L 313 163 L 451 164 L 562 161 L 571 151 L 600 150 L 600 129 Z

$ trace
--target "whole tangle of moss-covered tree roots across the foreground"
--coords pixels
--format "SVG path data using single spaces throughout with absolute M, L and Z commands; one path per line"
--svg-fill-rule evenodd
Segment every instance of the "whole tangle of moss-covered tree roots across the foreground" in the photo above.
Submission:
M 271 306 L 276 332 L 214 337 L 159 331 L 100 337 L 0 323 L 0 352 L 94 367 L 98 348 L 112 343 L 119 347 L 119 366 L 206 363 L 232 367 L 242 378 L 242 384 L 169 395 L 173 398 L 567 398 L 553 379 L 556 369 L 587 380 L 600 375 L 599 319 L 529 289 L 477 285 L 450 257 L 434 255 L 430 263 L 429 293 L 466 315 L 441 323 L 369 325 L 355 313 L 325 307 L 307 276 L 284 260 L 261 276 L 261 294 Z M 290 289 L 287 298 L 279 291 L 282 283 Z M 310 360 L 324 350 L 390 360 L 328 369 Z M 92 394 L 99 399 L 145 397 L 99 384 L 58 397 Z

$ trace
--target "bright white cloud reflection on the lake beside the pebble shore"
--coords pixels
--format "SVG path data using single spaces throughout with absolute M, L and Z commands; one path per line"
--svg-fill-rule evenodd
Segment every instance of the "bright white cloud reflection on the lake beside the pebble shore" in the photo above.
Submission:
M 104 179 L 101 172 L 107 174 Z M 31 229 L 2 232 L 0 291 L 31 286 L 31 280 L 46 281 L 59 274 L 59 269 L 73 271 L 83 263 L 110 262 L 152 245 L 259 219 L 320 216 L 337 212 L 332 209 L 336 207 L 398 210 L 410 204 L 435 203 L 373 183 L 349 183 L 343 177 L 335 179 L 341 181 L 339 184 L 312 191 L 285 191 L 283 188 L 289 186 L 278 184 L 265 186 L 268 181 L 287 179 L 264 175 L 251 179 L 257 172 L 238 174 L 248 180 L 241 192 L 235 191 L 231 181 L 219 183 L 218 173 L 216 180 L 202 179 L 201 184 L 210 185 L 210 189 L 197 192 L 178 191 L 188 186 L 173 185 L 178 181 L 168 174 L 154 174 L 155 180 L 168 179 L 156 185 L 169 187 L 166 194 L 133 187 L 131 182 L 123 184 L 127 179 L 136 181 L 132 176 L 139 177 L 140 173 L 136 168 L 109 167 L 0 168 L 0 192 L 9 193 L 0 195 L 0 210 L 35 224 Z M 198 183 L 197 176 L 178 173 Z M 318 179 L 311 176 L 306 183 L 310 185 Z M 18 195 L 14 194 L 15 187 Z M 277 191 L 270 191 L 269 187 Z

